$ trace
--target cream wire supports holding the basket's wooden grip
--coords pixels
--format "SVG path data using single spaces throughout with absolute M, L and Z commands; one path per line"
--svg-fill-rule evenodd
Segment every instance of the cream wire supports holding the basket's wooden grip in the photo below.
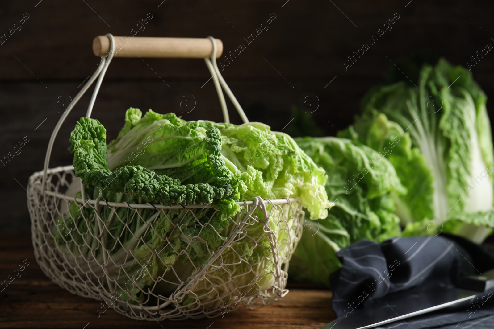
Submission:
M 42 177 L 42 180 L 41 180 L 41 191 L 44 191 L 44 189 L 45 189 L 46 177 L 47 177 L 47 172 L 48 172 L 48 166 L 49 166 L 49 162 L 50 162 L 51 152 L 53 150 L 53 144 L 55 143 L 55 138 L 56 138 L 56 136 L 57 136 L 57 134 L 58 134 L 58 132 L 60 130 L 60 127 L 62 126 L 62 124 L 64 123 L 65 119 L 67 118 L 67 116 L 69 115 L 69 113 L 72 111 L 72 109 L 74 108 L 74 106 L 79 102 L 79 100 L 81 99 L 82 95 L 85 94 L 85 92 L 87 91 L 87 89 L 89 89 L 89 87 L 93 84 L 93 82 L 99 76 L 99 78 L 98 78 L 98 80 L 96 82 L 96 85 L 94 87 L 94 91 L 93 91 L 92 97 L 91 97 L 91 99 L 89 101 L 89 106 L 87 107 L 87 111 L 86 111 L 86 116 L 87 117 L 90 117 L 91 116 L 92 109 L 93 109 L 93 106 L 94 106 L 94 102 L 96 100 L 96 96 L 98 95 L 98 91 L 99 91 L 99 88 L 101 86 L 101 82 L 103 81 L 103 77 L 105 76 L 106 70 L 108 69 L 108 66 L 109 66 L 110 62 L 112 61 L 112 58 L 113 58 L 113 56 L 115 54 L 115 39 L 114 39 L 113 35 L 110 34 L 110 33 L 108 33 L 105 36 L 108 37 L 108 39 L 110 40 L 110 49 L 108 51 L 108 56 L 107 57 L 101 56 L 101 61 L 100 61 L 99 65 L 98 65 L 98 68 L 93 73 L 93 75 L 91 75 L 91 77 L 89 78 L 89 80 L 87 80 L 87 82 L 84 84 L 84 86 L 82 87 L 81 91 L 79 91 L 79 93 L 76 95 L 76 97 L 74 97 L 74 100 L 69 105 L 69 108 L 62 114 L 62 116 L 58 120 L 57 124 L 55 125 L 55 128 L 53 129 L 53 132 L 51 134 L 50 140 L 48 142 L 48 148 L 46 149 L 46 155 L 45 155 L 45 158 L 44 158 L 43 177 Z M 223 78 L 223 76 L 221 75 L 221 73 L 218 70 L 218 66 L 216 64 L 217 48 L 216 48 L 215 39 L 213 37 L 208 37 L 208 38 L 212 41 L 212 45 L 213 45 L 212 48 L 213 49 L 212 49 L 212 52 L 211 52 L 211 58 L 209 59 L 209 58 L 206 57 L 205 58 L 205 61 L 206 61 L 206 66 L 207 66 L 207 68 L 209 70 L 209 73 L 211 73 L 211 76 L 213 78 L 214 86 L 216 88 L 216 91 L 218 93 L 218 98 L 220 100 L 221 109 L 223 111 L 223 118 L 224 118 L 225 122 L 227 122 L 227 123 L 230 122 L 229 115 L 228 115 L 228 109 L 226 107 L 225 98 L 223 96 L 223 92 L 222 92 L 221 88 L 223 88 L 225 90 L 226 94 L 228 95 L 228 97 L 232 101 L 235 109 L 237 110 L 237 112 L 239 113 L 240 117 L 242 118 L 242 121 L 244 123 L 248 123 L 249 121 L 247 119 L 247 116 L 246 116 L 244 110 L 242 110 L 242 107 L 240 106 L 239 102 L 237 101 L 237 99 L 233 95 L 233 92 L 228 87 L 225 79 Z M 157 39 L 159 39 L 159 38 L 157 38 Z M 81 190 L 82 190 L 81 193 L 82 193 L 83 204 L 84 204 L 85 207 L 88 207 L 88 205 L 86 205 L 86 196 L 85 196 L 85 193 L 84 193 L 84 188 L 81 188 Z

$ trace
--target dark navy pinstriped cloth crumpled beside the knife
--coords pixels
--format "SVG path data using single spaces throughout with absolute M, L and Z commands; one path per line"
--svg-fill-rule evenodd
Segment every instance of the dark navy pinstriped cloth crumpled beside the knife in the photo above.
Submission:
M 353 301 L 352 306 L 365 307 L 366 302 L 391 292 L 404 291 L 425 282 L 454 285 L 465 275 L 494 268 L 494 249 L 451 235 L 394 238 L 380 244 L 364 239 L 340 250 L 337 255 L 342 268 L 331 274 L 330 282 L 332 308 L 338 317 L 349 311 L 350 301 Z M 363 301 L 356 305 L 356 299 Z M 487 305 L 478 310 L 472 308 L 475 312 L 468 312 L 464 307 L 449 309 L 381 328 L 453 329 L 459 324 L 456 329 L 493 329 L 494 308 Z

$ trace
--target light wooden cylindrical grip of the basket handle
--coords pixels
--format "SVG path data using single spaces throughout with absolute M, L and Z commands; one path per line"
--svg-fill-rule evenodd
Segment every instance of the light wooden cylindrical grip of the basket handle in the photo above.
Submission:
M 213 50 L 211 40 L 206 37 L 114 37 L 114 57 L 147 58 L 206 58 Z M 221 57 L 223 42 L 216 42 L 216 58 Z M 93 53 L 106 56 L 110 50 L 110 39 L 106 36 L 95 37 Z

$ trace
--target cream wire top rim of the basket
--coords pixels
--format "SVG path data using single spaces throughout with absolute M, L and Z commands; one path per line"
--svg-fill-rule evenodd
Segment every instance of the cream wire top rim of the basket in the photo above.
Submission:
M 74 166 L 69 165 L 69 166 L 58 166 L 55 168 L 48 168 L 47 174 L 56 174 L 59 172 L 67 172 L 67 171 L 73 171 Z M 38 171 L 33 173 L 29 177 L 29 184 L 35 187 L 35 184 L 33 182 L 35 179 L 40 178 L 43 176 L 43 171 Z M 66 201 L 74 201 L 78 203 L 83 203 L 84 201 L 82 198 L 76 198 L 74 196 L 67 196 L 64 193 L 57 193 L 53 191 L 47 190 L 47 185 L 45 185 L 45 190 L 40 191 L 42 192 L 43 195 L 50 195 L 55 198 L 60 198 L 64 199 Z M 41 189 L 41 184 L 40 186 L 36 186 L 38 190 Z M 281 198 L 281 199 L 263 199 L 263 203 L 265 205 L 282 205 L 282 204 L 291 204 L 292 202 L 300 202 L 299 198 Z M 112 207 L 125 207 L 125 208 L 138 208 L 138 209 L 197 209 L 197 208 L 214 208 L 211 204 L 200 204 L 200 205 L 187 205 L 187 206 L 182 206 L 182 205 L 172 205 L 172 206 L 164 206 L 161 204 L 151 204 L 151 203 L 127 203 L 127 202 L 112 202 L 112 201 L 106 201 L 106 200 L 94 200 L 94 199 L 86 199 L 86 203 L 93 204 L 95 205 L 98 203 L 99 205 L 102 206 L 112 206 Z M 255 201 L 239 201 L 236 202 L 239 206 L 241 207 L 246 207 L 246 206 L 252 206 Z

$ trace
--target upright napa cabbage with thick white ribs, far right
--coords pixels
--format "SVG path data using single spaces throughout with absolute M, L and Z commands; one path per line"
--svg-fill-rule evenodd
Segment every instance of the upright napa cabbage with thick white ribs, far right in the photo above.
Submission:
M 422 68 L 416 87 L 405 82 L 376 87 L 362 107 L 345 137 L 376 150 L 395 135 L 405 142 L 396 149 L 408 154 L 393 152 L 388 159 L 408 188 L 407 195 L 398 196 L 397 209 L 410 222 L 408 234 L 433 219 L 444 225 L 443 231 L 481 242 L 486 234 L 480 233 L 490 230 L 466 228 L 479 222 L 472 214 L 493 218 L 485 214 L 493 210 L 494 156 L 486 96 L 471 72 L 441 59 L 435 67 Z M 446 225 L 450 219 L 468 225 L 453 229 Z M 494 221 L 483 225 L 494 228 Z

